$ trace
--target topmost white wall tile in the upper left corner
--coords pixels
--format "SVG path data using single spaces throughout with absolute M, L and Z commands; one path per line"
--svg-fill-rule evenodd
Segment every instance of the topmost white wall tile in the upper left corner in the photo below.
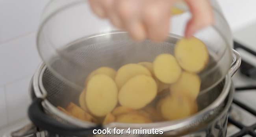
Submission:
M 36 31 L 49 0 L 0 0 L 0 43 Z

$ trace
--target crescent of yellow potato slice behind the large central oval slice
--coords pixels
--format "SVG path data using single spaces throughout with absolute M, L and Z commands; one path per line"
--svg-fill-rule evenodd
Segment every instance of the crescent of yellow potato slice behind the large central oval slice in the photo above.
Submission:
M 151 76 L 150 71 L 139 64 L 127 64 L 119 68 L 117 70 L 117 75 L 115 77 L 115 82 L 117 83 L 118 89 L 121 87 L 132 77 L 137 75 L 146 75 Z

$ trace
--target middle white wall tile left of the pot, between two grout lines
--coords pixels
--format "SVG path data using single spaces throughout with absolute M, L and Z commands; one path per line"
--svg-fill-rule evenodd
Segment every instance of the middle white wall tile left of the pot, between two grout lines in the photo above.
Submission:
M 32 76 L 40 58 L 35 33 L 0 45 L 0 85 Z

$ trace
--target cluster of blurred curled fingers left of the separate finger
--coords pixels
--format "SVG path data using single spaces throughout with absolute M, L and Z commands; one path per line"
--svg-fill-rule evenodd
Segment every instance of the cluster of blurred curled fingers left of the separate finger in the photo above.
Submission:
M 164 40 L 169 33 L 174 0 L 89 0 L 92 10 L 135 40 Z

